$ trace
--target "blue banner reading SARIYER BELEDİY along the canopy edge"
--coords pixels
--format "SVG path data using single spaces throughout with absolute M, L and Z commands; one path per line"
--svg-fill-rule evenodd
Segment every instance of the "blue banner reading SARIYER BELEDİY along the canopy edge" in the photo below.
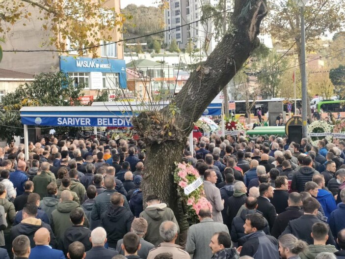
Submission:
M 22 124 L 75 127 L 133 127 L 129 117 L 22 117 Z

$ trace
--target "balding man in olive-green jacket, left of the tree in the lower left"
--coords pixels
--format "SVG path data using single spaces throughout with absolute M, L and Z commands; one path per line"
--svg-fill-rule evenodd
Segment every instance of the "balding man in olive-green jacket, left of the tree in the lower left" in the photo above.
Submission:
M 80 207 L 80 204 L 73 201 L 71 191 L 64 190 L 61 192 L 60 203 L 57 204 L 56 209 L 52 212 L 51 226 L 57 242 L 61 242 L 64 238 L 65 231 L 73 226 L 70 221 L 70 213 L 73 209 Z M 89 227 L 89 221 L 84 215 L 84 226 Z

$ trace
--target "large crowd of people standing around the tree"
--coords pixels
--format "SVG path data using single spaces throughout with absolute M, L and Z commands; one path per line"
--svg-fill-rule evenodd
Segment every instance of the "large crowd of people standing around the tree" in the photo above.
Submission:
M 145 143 L 39 139 L 0 148 L 0 258 L 345 258 L 345 142 L 212 136 L 182 163 L 212 209 L 180 229 L 140 188 Z M 173 183 L 172 183 L 173 184 Z

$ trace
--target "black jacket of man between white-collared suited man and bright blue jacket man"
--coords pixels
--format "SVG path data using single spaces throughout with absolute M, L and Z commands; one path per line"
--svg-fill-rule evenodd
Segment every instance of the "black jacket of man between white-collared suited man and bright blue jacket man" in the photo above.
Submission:
M 288 226 L 290 220 L 298 219 L 300 216 L 303 215 L 303 211 L 298 206 L 290 206 L 286 208 L 286 211 L 280 213 L 273 224 L 273 228 L 271 229 L 271 235 L 275 238 L 278 238 L 283 231 Z

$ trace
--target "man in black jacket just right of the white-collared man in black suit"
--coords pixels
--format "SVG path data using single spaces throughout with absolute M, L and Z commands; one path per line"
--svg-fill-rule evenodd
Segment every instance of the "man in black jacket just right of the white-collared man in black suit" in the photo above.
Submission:
M 289 162 L 288 162 L 289 163 Z M 288 207 L 289 199 L 289 181 L 286 176 L 278 176 L 275 179 L 275 190 L 271 203 L 275 207 L 277 214 L 285 211 Z

